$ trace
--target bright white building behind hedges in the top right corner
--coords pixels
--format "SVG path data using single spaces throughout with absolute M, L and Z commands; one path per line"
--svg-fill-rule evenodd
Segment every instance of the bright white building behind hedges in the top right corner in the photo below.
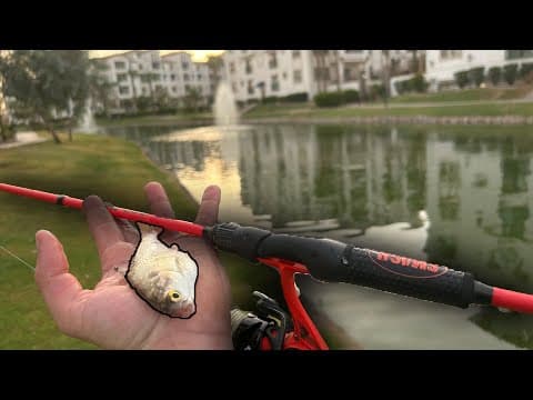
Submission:
M 455 86 L 454 74 L 459 71 L 533 62 L 533 50 L 425 50 L 425 79 L 432 91 Z

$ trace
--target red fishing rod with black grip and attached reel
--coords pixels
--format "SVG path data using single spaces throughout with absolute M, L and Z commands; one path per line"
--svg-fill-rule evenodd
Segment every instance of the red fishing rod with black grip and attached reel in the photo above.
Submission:
M 0 191 L 81 209 L 83 200 L 64 194 L 0 183 Z M 493 306 L 533 313 L 533 296 L 491 287 L 469 272 L 408 257 L 361 249 L 331 239 L 278 234 L 234 222 L 203 227 L 107 204 L 117 218 L 160 226 L 203 237 L 220 250 L 276 269 L 286 313 L 275 300 L 254 292 L 258 312 L 232 310 L 232 336 L 239 349 L 326 350 L 328 344 L 299 299 L 294 276 L 310 274 L 324 282 L 344 282 L 459 308 Z

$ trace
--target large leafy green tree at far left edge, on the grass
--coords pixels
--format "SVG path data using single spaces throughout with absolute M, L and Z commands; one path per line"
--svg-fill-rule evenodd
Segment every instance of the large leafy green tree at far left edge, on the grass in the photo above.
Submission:
M 0 59 L 4 94 L 13 99 L 16 114 L 43 123 L 61 143 L 53 122 L 67 112 L 71 127 L 83 113 L 88 66 L 81 50 L 13 50 Z

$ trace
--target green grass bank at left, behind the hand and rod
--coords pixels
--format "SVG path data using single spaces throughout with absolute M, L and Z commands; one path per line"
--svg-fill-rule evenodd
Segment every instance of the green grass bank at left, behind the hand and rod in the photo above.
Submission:
M 98 193 L 105 201 L 141 211 L 148 211 L 142 187 L 151 180 L 165 187 L 177 218 L 193 219 L 197 204 L 174 177 L 124 140 L 80 134 L 61 146 L 50 141 L 0 150 L 0 182 L 78 198 Z M 48 229 L 63 243 L 71 271 L 81 283 L 87 288 L 94 286 L 100 263 L 81 212 L 3 192 L 0 210 L 0 244 L 34 264 L 34 233 Z M 269 291 L 278 287 L 274 271 L 250 268 L 227 254 L 222 254 L 222 262 L 239 304 L 251 306 L 252 288 Z M 0 349 L 92 348 L 59 332 L 34 284 L 33 272 L 0 250 Z

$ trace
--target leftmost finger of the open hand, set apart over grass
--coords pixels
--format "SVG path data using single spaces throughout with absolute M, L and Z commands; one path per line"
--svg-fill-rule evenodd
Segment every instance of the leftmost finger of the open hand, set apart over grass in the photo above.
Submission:
M 63 247 L 49 231 L 40 230 L 36 234 L 37 266 L 36 281 L 41 290 L 53 320 L 59 329 L 73 334 L 80 324 L 76 306 L 82 292 L 78 279 L 69 273 L 69 262 Z

